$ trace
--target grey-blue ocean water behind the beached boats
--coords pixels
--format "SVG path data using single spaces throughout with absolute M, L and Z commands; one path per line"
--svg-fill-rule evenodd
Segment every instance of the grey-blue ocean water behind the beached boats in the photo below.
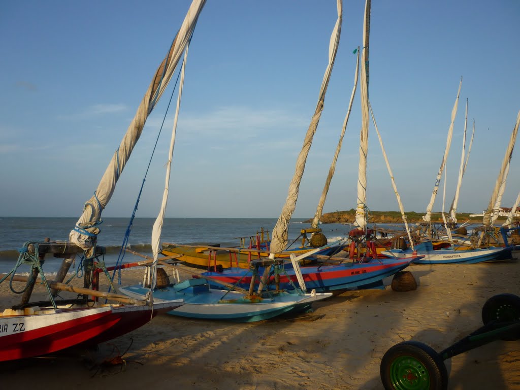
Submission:
M 77 218 L 0 217 L 0 273 L 8 272 L 15 266 L 19 250 L 27 241 L 43 241 L 46 237 L 50 240 L 68 240 L 76 220 Z M 291 220 L 289 242 L 300 236 L 301 229 L 310 227 L 310 223 L 303 223 L 303 220 L 298 218 Z M 127 248 L 150 256 L 154 221 L 155 218 L 135 218 Z M 255 236 L 262 227 L 270 232 L 276 221 L 277 218 L 166 218 L 163 224 L 162 241 L 177 244 L 218 243 L 220 246 L 237 246 L 240 237 Z M 101 232 L 98 235 L 98 245 L 105 246 L 107 250 L 105 255 L 107 266 L 115 265 L 118 261 L 128 224 L 129 218 L 103 218 L 103 223 L 99 226 Z M 325 224 L 321 225 L 321 228 L 331 242 L 345 238 L 352 226 Z M 55 274 L 61 261 L 61 258 L 47 256 L 44 271 Z M 142 261 L 142 258 L 130 253 L 124 254 L 124 263 L 135 261 Z M 17 273 L 27 274 L 28 266 L 22 267 Z

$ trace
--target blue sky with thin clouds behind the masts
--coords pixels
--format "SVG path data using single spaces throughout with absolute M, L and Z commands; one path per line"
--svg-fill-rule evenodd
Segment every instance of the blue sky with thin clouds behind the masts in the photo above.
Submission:
M 81 214 L 189 4 L 0 3 L 0 216 Z M 279 215 L 327 66 L 335 7 L 333 0 L 207 1 L 188 56 L 166 216 Z M 343 4 L 340 46 L 294 217 L 316 210 L 352 91 L 363 7 L 360 0 Z M 374 0 L 371 16 L 370 101 L 405 209 L 424 212 L 430 200 L 463 76 L 445 208 L 469 99 L 476 134 L 458 210 L 481 212 L 520 109 L 520 2 Z M 131 215 L 172 86 L 103 216 Z M 159 211 L 173 112 L 137 216 Z M 358 90 L 324 212 L 356 206 L 359 130 Z M 369 142 L 369 209 L 398 210 L 372 124 Z M 504 206 L 520 190 L 519 172 L 514 154 Z M 442 186 L 434 212 L 443 205 Z

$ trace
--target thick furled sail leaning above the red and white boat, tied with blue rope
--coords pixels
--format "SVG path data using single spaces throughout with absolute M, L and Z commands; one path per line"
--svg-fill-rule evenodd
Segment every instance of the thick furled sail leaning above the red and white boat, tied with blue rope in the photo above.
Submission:
M 69 238 L 76 245 L 86 251 L 87 256 L 92 255 L 92 248 L 96 241 L 99 229 L 96 227 L 101 220 L 101 212 L 107 206 L 115 189 L 115 185 L 123 172 L 134 146 L 145 126 L 148 115 L 153 110 L 155 103 L 160 99 L 165 88 L 177 67 L 180 56 L 188 44 L 197 19 L 205 4 L 205 0 L 193 0 L 183 24 L 173 41 L 168 54 L 162 61 L 152 82 L 142 98 L 132 123 L 128 126 L 121 145 L 115 151 L 105 174 L 99 185 L 84 206 L 83 214 L 77 220 L 76 227 L 70 232 Z

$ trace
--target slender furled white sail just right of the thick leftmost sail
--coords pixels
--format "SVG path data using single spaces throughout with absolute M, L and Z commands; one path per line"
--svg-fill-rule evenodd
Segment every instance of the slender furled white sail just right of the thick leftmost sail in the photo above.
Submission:
M 175 109 L 175 118 L 173 120 L 173 128 L 172 128 L 172 137 L 170 140 L 170 151 L 168 152 L 168 161 L 166 163 L 166 178 L 164 184 L 163 198 L 161 203 L 161 209 L 159 211 L 159 215 L 155 219 L 155 223 L 152 228 L 152 253 L 153 253 L 153 263 L 152 263 L 152 280 L 150 283 L 150 290 L 155 288 L 155 283 L 157 282 L 157 274 L 153 268 L 157 267 L 157 263 L 159 261 L 159 254 L 161 253 L 161 235 L 162 235 L 162 226 L 164 223 L 164 215 L 166 213 L 166 205 L 168 203 L 168 188 L 170 187 L 170 174 L 172 171 L 172 159 L 173 159 L 173 149 L 175 147 L 175 134 L 177 132 L 177 121 L 179 119 L 179 110 L 180 110 L 180 98 L 183 95 L 183 87 L 184 87 L 184 74 L 186 69 L 186 61 L 188 59 L 188 45 L 186 45 L 186 50 L 184 52 L 184 61 L 183 66 L 180 68 L 180 79 L 179 79 L 179 91 L 177 95 L 177 106 Z

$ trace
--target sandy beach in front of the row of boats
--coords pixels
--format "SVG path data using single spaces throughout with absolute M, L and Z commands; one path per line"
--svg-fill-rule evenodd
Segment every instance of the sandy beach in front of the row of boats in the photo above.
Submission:
M 161 315 L 102 344 L 52 358 L 0 363 L 2 388 L 382 389 L 380 362 L 396 343 L 437 352 L 482 325 L 486 300 L 520 295 L 512 262 L 412 265 L 415 291 L 344 292 L 314 313 L 253 323 Z M 135 282 L 141 271 L 124 274 Z M 124 284 L 124 283 L 123 283 Z M 2 307 L 20 301 L 0 285 Z M 122 356 L 123 365 L 104 364 Z M 450 389 L 520 389 L 520 341 L 495 341 L 445 361 Z

